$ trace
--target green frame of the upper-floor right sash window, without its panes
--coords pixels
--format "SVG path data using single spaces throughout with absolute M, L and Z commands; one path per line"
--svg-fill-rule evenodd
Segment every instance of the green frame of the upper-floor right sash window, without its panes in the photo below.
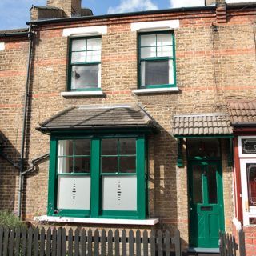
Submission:
M 141 43 L 141 36 L 142 35 L 156 35 L 156 46 L 142 46 Z M 157 56 L 157 49 L 158 49 L 158 34 L 170 34 L 170 37 L 172 38 L 172 45 L 165 45 L 165 46 L 172 46 L 172 57 L 158 57 Z M 156 56 L 152 58 L 142 58 L 142 48 L 150 48 L 155 47 L 156 50 Z M 173 62 L 173 83 L 167 83 L 167 84 L 158 84 L 158 85 L 147 85 L 142 86 L 142 62 L 158 62 L 163 60 L 170 60 Z M 169 74 L 170 75 L 170 74 Z M 146 88 L 146 89 L 154 89 L 154 88 L 166 88 L 166 87 L 176 87 L 176 57 L 175 57 L 175 36 L 174 31 L 158 31 L 158 32 L 142 32 L 138 34 L 138 87 L 139 89 Z

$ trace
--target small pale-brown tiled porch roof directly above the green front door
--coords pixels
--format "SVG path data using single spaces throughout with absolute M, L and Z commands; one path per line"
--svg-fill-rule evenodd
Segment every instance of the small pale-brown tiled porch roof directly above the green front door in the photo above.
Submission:
M 174 136 L 232 134 L 227 114 L 187 114 L 174 116 Z

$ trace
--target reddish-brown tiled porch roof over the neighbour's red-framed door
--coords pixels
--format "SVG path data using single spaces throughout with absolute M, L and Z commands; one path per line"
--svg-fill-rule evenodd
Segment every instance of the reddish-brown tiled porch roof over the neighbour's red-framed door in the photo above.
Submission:
M 233 125 L 256 124 L 256 100 L 229 102 L 228 110 Z

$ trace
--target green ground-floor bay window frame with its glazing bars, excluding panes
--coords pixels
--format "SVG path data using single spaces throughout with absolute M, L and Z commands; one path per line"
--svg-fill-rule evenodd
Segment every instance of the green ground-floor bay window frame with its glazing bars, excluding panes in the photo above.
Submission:
M 120 142 L 122 139 L 128 141 L 135 140 L 136 153 L 125 154 L 120 151 Z M 62 140 L 78 140 L 90 139 L 90 171 L 86 173 L 58 174 L 58 142 Z M 116 139 L 118 141 L 118 153 L 114 155 L 102 154 L 102 141 L 106 139 Z M 76 155 L 73 155 L 76 157 Z M 118 167 L 118 170 L 104 172 L 102 171 L 102 157 L 118 158 L 118 165 L 121 158 L 134 158 L 135 170 L 126 171 Z M 88 155 L 86 155 L 88 157 Z M 122 160 L 121 160 L 122 161 Z M 134 165 L 132 165 L 134 166 Z M 58 209 L 58 188 L 61 186 L 60 177 L 82 177 L 86 182 L 90 178 L 90 209 Z M 127 178 L 136 179 L 136 209 L 135 210 L 111 210 L 103 209 L 103 196 L 105 195 L 105 180 L 118 177 L 126 182 Z M 129 185 L 130 186 L 130 185 Z M 65 216 L 77 218 L 123 218 L 123 219 L 145 219 L 146 218 L 146 138 L 144 134 L 120 134 L 120 135 L 101 135 L 101 136 L 85 136 L 74 134 L 72 136 L 66 134 L 52 134 L 50 139 L 50 172 L 49 172 L 49 189 L 48 189 L 48 212 L 49 216 Z M 110 188 L 110 186 L 109 186 Z M 106 190 L 108 191 L 108 190 Z M 104 193 L 104 194 L 103 194 Z

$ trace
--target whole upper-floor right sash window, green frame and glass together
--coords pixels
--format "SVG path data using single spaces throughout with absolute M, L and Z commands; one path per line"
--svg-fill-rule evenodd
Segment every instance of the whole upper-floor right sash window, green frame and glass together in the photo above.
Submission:
M 146 42 L 146 38 L 149 42 Z M 169 42 L 164 42 L 163 38 Z M 172 31 L 138 34 L 138 87 L 176 87 L 175 39 Z

